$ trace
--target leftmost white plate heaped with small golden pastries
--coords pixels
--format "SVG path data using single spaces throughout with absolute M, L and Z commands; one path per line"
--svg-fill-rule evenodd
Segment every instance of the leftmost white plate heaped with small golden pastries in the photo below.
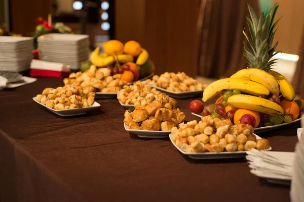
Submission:
M 95 92 L 80 86 L 45 88 L 42 94 L 37 94 L 32 99 L 62 117 L 86 114 L 100 107 L 100 104 L 94 101 Z

